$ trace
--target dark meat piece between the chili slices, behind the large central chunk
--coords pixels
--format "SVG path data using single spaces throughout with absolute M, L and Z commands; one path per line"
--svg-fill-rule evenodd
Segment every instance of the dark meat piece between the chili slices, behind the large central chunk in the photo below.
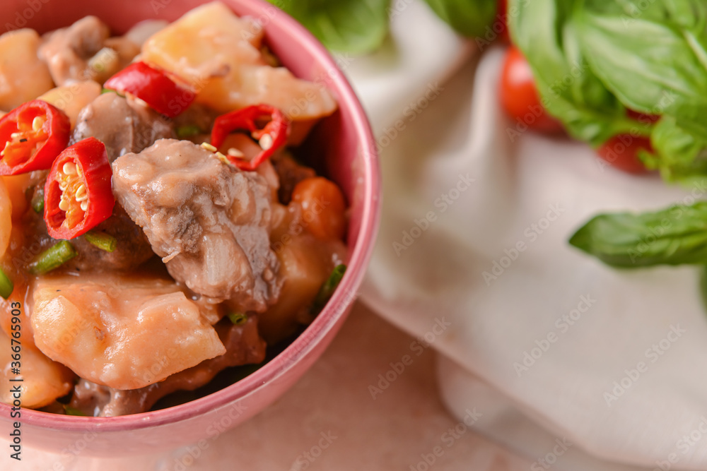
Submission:
M 173 129 L 170 121 L 151 109 L 116 93 L 104 93 L 78 114 L 69 144 L 89 137 L 105 144 L 112 162 L 121 155 L 138 153 L 159 139 L 173 137 Z

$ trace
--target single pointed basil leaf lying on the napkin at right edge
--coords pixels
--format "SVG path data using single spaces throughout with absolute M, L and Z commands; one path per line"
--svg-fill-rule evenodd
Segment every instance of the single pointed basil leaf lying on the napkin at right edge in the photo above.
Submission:
M 570 244 L 610 266 L 707 264 L 707 201 L 594 217 Z

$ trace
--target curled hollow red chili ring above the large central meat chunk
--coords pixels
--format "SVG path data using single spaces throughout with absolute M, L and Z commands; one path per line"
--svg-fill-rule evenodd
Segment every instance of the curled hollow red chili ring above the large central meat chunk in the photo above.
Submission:
M 269 122 L 263 126 L 266 120 Z M 214 129 L 211 131 L 211 145 L 220 148 L 228 134 L 233 131 L 247 131 L 256 141 L 259 141 L 262 153 L 256 155 L 250 162 L 228 155 L 228 159 L 239 169 L 253 171 L 286 144 L 290 133 L 290 121 L 279 109 L 270 105 L 253 105 L 237 109 L 216 118 Z

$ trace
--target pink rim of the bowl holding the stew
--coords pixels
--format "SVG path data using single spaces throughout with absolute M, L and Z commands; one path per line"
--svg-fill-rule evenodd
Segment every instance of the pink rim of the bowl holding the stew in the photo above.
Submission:
M 241 4 L 244 9 L 251 11 L 276 8 L 264 0 L 230 1 Z M 287 374 L 298 364 L 300 359 L 324 340 L 329 331 L 334 326 L 337 326 L 341 316 L 346 314 L 349 304 L 355 302 L 356 293 L 363 282 L 368 261 L 373 254 L 375 237 L 380 224 L 381 177 L 373 131 L 354 89 L 337 66 L 337 62 L 319 40 L 284 11 L 279 10 L 272 22 L 279 23 L 279 28 L 288 31 L 292 37 L 299 37 L 303 51 L 311 56 L 316 64 L 325 66 L 330 78 L 329 88 L 337 91 L 339 109 L 346 110 L 351 115 L 351 121 L 356 131 L 355 135 L 358 136 L 358 141 L 361 142 L 363 174 L 366 175 L 366 184 L 361 198 L 363 202 L 361 227 L 356 245 L 349 258 L 349 267 L 334 296 L 329 299 L 329 302 L 319 316 L 315 318 L 315 321 L 274 359 L 271 359 L 270 362 L 240 381 L 203 398 L 162 410 L 119 417 L 76 417 L 23 408 L 21 420 L 23 425 L 31 425 L 42 429 L 56 429 L 64 432 L 86 432 L 93 427 L 95 427 L 95 431 L 139 430 L 182 422 L 210 410 L 227 406 L 234 400 L 245 398 L 247 395 L 255 393 L 259 388 Z M 11 410 L 11 405 L 0 403 L 0 415 L 2 417 L 10 417 L 9 414 L 6 414 L 9 410 Z

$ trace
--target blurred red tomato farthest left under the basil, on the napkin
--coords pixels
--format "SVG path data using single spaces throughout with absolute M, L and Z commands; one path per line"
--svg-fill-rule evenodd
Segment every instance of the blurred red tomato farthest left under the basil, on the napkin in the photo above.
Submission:
M 509 47 L 501 74 L 501 105 L 509 117 L 519 119 L 528 128 L 544 133 L 563 130 L 540 103 L 530 64 L 516 47 Z

